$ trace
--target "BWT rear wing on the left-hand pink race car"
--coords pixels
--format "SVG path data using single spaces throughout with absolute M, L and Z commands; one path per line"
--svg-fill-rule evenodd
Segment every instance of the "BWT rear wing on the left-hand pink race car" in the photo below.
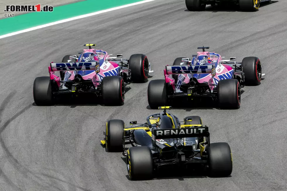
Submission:
M 95 70 L 100 72 L 99 62 L 71 62 L 71 63 L 51 63 L 52 71 L 78 71 L 78 70 Z

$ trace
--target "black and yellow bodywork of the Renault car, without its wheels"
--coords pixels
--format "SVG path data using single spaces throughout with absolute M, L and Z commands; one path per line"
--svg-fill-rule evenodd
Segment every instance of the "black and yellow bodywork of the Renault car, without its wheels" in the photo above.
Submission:
M 169 115 L 169 116 L 168 116 Z M 151 118 L 159 118 L 161 123 L 151 123 Z M 133 147 L 147 146 L 151 149 L 153 165 L 155 170 L 161 166 L 180 165 L 189 166 L 192 164 L 207 164 L 207 156 L 204 145 L 210 144 L 208 127 L 181 125 L 176 116 L 163 111 L 147 117 L 147 123 L 137 124 L 130 122 L 131 126 L 123 132 L 123 152 L 127 156 L 126 144 Z M 189 120 L 184 118 L 184 121 Z M 154 121 L 153 121 L 154 122 Z M 173 123 L 175 127 L 173 127 Z M 159 127 L 160 126 L 160 127 Z M 156 136 L 158 130 L 194 130 L 205 129 L 203 133 L 184 136 Z M 204 142 L 205 138 L 205 142 Z M 183 142 L 183 140 L 185 141 Z M 159 141 L 158 141 L 159 140 Z

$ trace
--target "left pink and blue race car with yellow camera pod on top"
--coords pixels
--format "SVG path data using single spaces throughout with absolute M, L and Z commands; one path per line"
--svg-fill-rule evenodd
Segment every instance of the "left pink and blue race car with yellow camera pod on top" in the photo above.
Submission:
M 144 54 L 133 54 L 127 60 L 122 59 L 122 54 L 111 57 L 112 54 L 106 51 L 92 49 L 95 44 L 84 46 L 89 48 L 79 56 L 66 55 L 61 63 L 51 62 L 48 67 L 50 76 L 34 80 L 35 104 L 54 105 L 60 95 L 69 98 L 85 95 L 82 100 L 100 98 L 104 105 L 123 105 L 126 85 L 145 82 L 153 72 Z

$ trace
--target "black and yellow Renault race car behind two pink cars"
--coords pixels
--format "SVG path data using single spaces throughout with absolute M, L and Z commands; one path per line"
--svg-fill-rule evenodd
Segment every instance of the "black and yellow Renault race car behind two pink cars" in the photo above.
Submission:
M 183 124 L 167 112 L 170 107 L 159 107 L 163 112 L 146 118 L 146 123 L 107 121 L 102 145 L 107 152 L 122 152 L 126 156 L 131 180 L 153 178 L 162 166 L 195 167 L 201 165 L 210 176 L 226 177 L 232 173 L 232 154 L 228 143 L 210 143 L 208 127 L 199 116 L 185 117 Z M 132 147 L 126 148 L 126 144 Z

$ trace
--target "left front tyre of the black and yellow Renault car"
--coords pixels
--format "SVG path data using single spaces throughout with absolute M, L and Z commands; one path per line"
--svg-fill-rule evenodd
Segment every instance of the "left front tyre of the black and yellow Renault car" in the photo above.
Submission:
M 106 151 L 122 152 L 123 151 L 123 129 L 124 121 L 111 119 L 106 125 Z

